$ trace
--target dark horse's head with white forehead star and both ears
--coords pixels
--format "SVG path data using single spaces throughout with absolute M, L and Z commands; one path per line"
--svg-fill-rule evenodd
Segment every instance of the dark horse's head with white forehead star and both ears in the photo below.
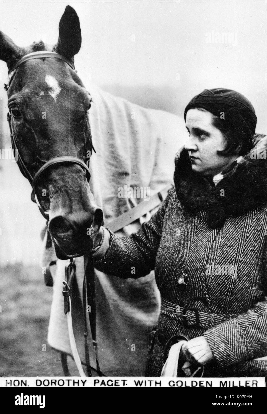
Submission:
M 89 229 L 103 220 L 88 182 L 91 97 L 74 70 L 80 46 L 80 22 L 70 6 L 54 46 L 40 41 L 20 48 L 0 32 L 0 59 L 9 69 L 12 147 L 33 186 L 32 199 L 48 219 L 59 258 L 85 254 L 92 247 Z

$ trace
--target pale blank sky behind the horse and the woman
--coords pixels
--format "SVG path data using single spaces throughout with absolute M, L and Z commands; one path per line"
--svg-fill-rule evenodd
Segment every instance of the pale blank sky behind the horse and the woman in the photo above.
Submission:
M 180 115 L 205 88 L 236 89 L 253 103 L 257 131 L 267 133 L 267 0 L 0 0 L 0 30 L 19 46 L 40 39 L 54 44 L 68 4 L 80 18 L 75 63 L 85 85 L 92 79 L 130 101 Z M 233 41 L 206 43 L 216 33 L 216 39 L 232 34 Z M 0 61 L 0 134 L 3 129 L 9 147 L 4 82 Z M 0 266 L 38 263 L 44 219 L 17 165 L 1 163 L 8 168 L 0 172 Z

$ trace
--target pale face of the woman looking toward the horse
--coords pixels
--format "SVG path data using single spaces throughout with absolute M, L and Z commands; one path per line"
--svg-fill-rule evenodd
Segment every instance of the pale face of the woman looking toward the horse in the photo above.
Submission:
M 189 137 L 185 145 L 192 170 L 204 176 L 215 176 L 227 168 L 237 155 L 217 154 L 226 147 L 222 132 L 213 125 L 213 114 L 197 108 L 189 109 L 186 117 Z

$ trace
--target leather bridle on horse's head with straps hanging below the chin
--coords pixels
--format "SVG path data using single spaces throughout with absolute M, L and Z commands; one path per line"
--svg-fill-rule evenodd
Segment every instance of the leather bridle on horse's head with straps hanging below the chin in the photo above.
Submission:
M 67 63 L 72 70 L 75 70 L 74 64 L 71 62 L 71 60 L 66 59 L 64 56 L 59 55 L 56 52 L 47 52 L 47 51 L 38 51 L 33 53 L 28 53 L 23 58 L 21 58 L 15 65 L 12 67 L 11 70 L 9 70 L 9 82 L 7 85 L 5 85 L 5 90 L 7 91 L 12 83 L 12 80 L 14 79 L 14 75 L 16 73 L 17 67 L 19 67 L 22 63 L 26 62 L 27 60 L 31 59 L 43 59 L 43 58 L 56 58 L 59 60 L 63 60 L 65 63 Z M 21 155 L 19 154 L 17 140 L 14 135 L 13 127 L 12 127 L 12 115 L 11 113 L 7 113 L 7 121 L 9 124 L 10 129 L 10 137 L 12 142 L 12 148 L 14 151 L 17 151 L 18 156 L 18 165 L 21 173 L 28 179 L 28 181 L 31 183 L 31 186 L 33 188 L 33 197 L 39 207 L 40 212 L 43 214 L 43 217 L 45 219 L 49 220 L 49 212 L 46 211 L 46 209 L 43 207 L 42 202 L 40 203 L 36 194 L 36 185 L 38 183 L 38 180 L 44 173 L 44 171 L 47 170 L 47 168 L 50 168 L 52 165 L 57 164 L 76 164 L 83 168 L 85 171 L 85 175 L 87 178 L 87 181 L 90 181 L 90 171 L 89 171 L 89 161 L 88 158 L 88 165 L 85 164 L 84 161 L 74 157 L 74 156 L 58 156 L 55 158 L 52 158 L 48 161 L 43 161 L 39 158 L 40 161 L 42 161 L 44 164 L 38 169 L 38 171 L 35 173 L 34 176 L 30 173 L 28 168 L 26 167 Z M 86 151 L 90 151 L 90 154 L 92 154 L 92 150 L 95 151 L 92 139 L 90 137 L 90 146 L 87 148 L 86 145 Z M 86 157 L 85 157 L 86 159 Z M 51 241 L 52 243 L 52 241 Z M 95 303 L 95 271 L 94 266 L 92 262 L 92 253 L 88 252 L 88 256 L 85 257 L 85 277 L 83 280 L 83 312 L 84 312 L 84 323 L 85 323 L 85 331 L 84 331 L 84 340 L 85 340 L 85 363 L 86 363 L 86 371 L 88 376 L 92 376 L 92 370 L 96 371 L 99 376 L 102 376 L 102 372 L 99 368 L 99 362 L 98 362 L 98 355 L 97 355 L 97 337 L 96 337 L 96 303 Z M 65 279 L 63 281 L 63 296 L 64 296 L 64 313 L 67 317 L 67 323 L 68 323 L 68 331 L 69 331 L 69 339 L 71 344 L 71 351 L 73 354 L 73 358 L 76 362 L 76 366 L 78 368 L 78 371 L 81 376 L 84 376 L 85 373 L 83 371 L 83 367 L 80 361 L 80 357 L 78 355 L 78 351 L 76 348 L 76 342 L 73 335 L 73 327 L 72 327 L 72 319 L 71 319 L 71 289 L 72 289 L 72 282 L 73 279 L 76 276 L 76 265 L 75 265 L 75 259 L 71 258 L 68 265 L 65 267 Z M 88 314 L 88 308 L 90 307 L 89 312 L 89 321 L 90 321 L 90 329 L 92 334 L 92 344 L 95 351 L 95 359 L 96 359 L 96 366 L 97 369 L 92 368 L 90 366 L 90 358 L 89 358 L 89 348 L 87 344 L 87 314 Z M 61 352 L 61 363 L 64 370 L 64 374 L 66 376 L 69 376 L 69 368 L 67 366 L 66 361 L 66 354 L 64 352 Z

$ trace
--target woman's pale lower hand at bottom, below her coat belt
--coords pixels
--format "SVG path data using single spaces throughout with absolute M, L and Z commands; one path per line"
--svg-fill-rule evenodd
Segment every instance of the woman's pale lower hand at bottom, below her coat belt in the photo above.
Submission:
M 205 337 L 190 339 L 182 345 L 182 352 L 187 361 L 204 365 L 214 360 L 213 353 Z

